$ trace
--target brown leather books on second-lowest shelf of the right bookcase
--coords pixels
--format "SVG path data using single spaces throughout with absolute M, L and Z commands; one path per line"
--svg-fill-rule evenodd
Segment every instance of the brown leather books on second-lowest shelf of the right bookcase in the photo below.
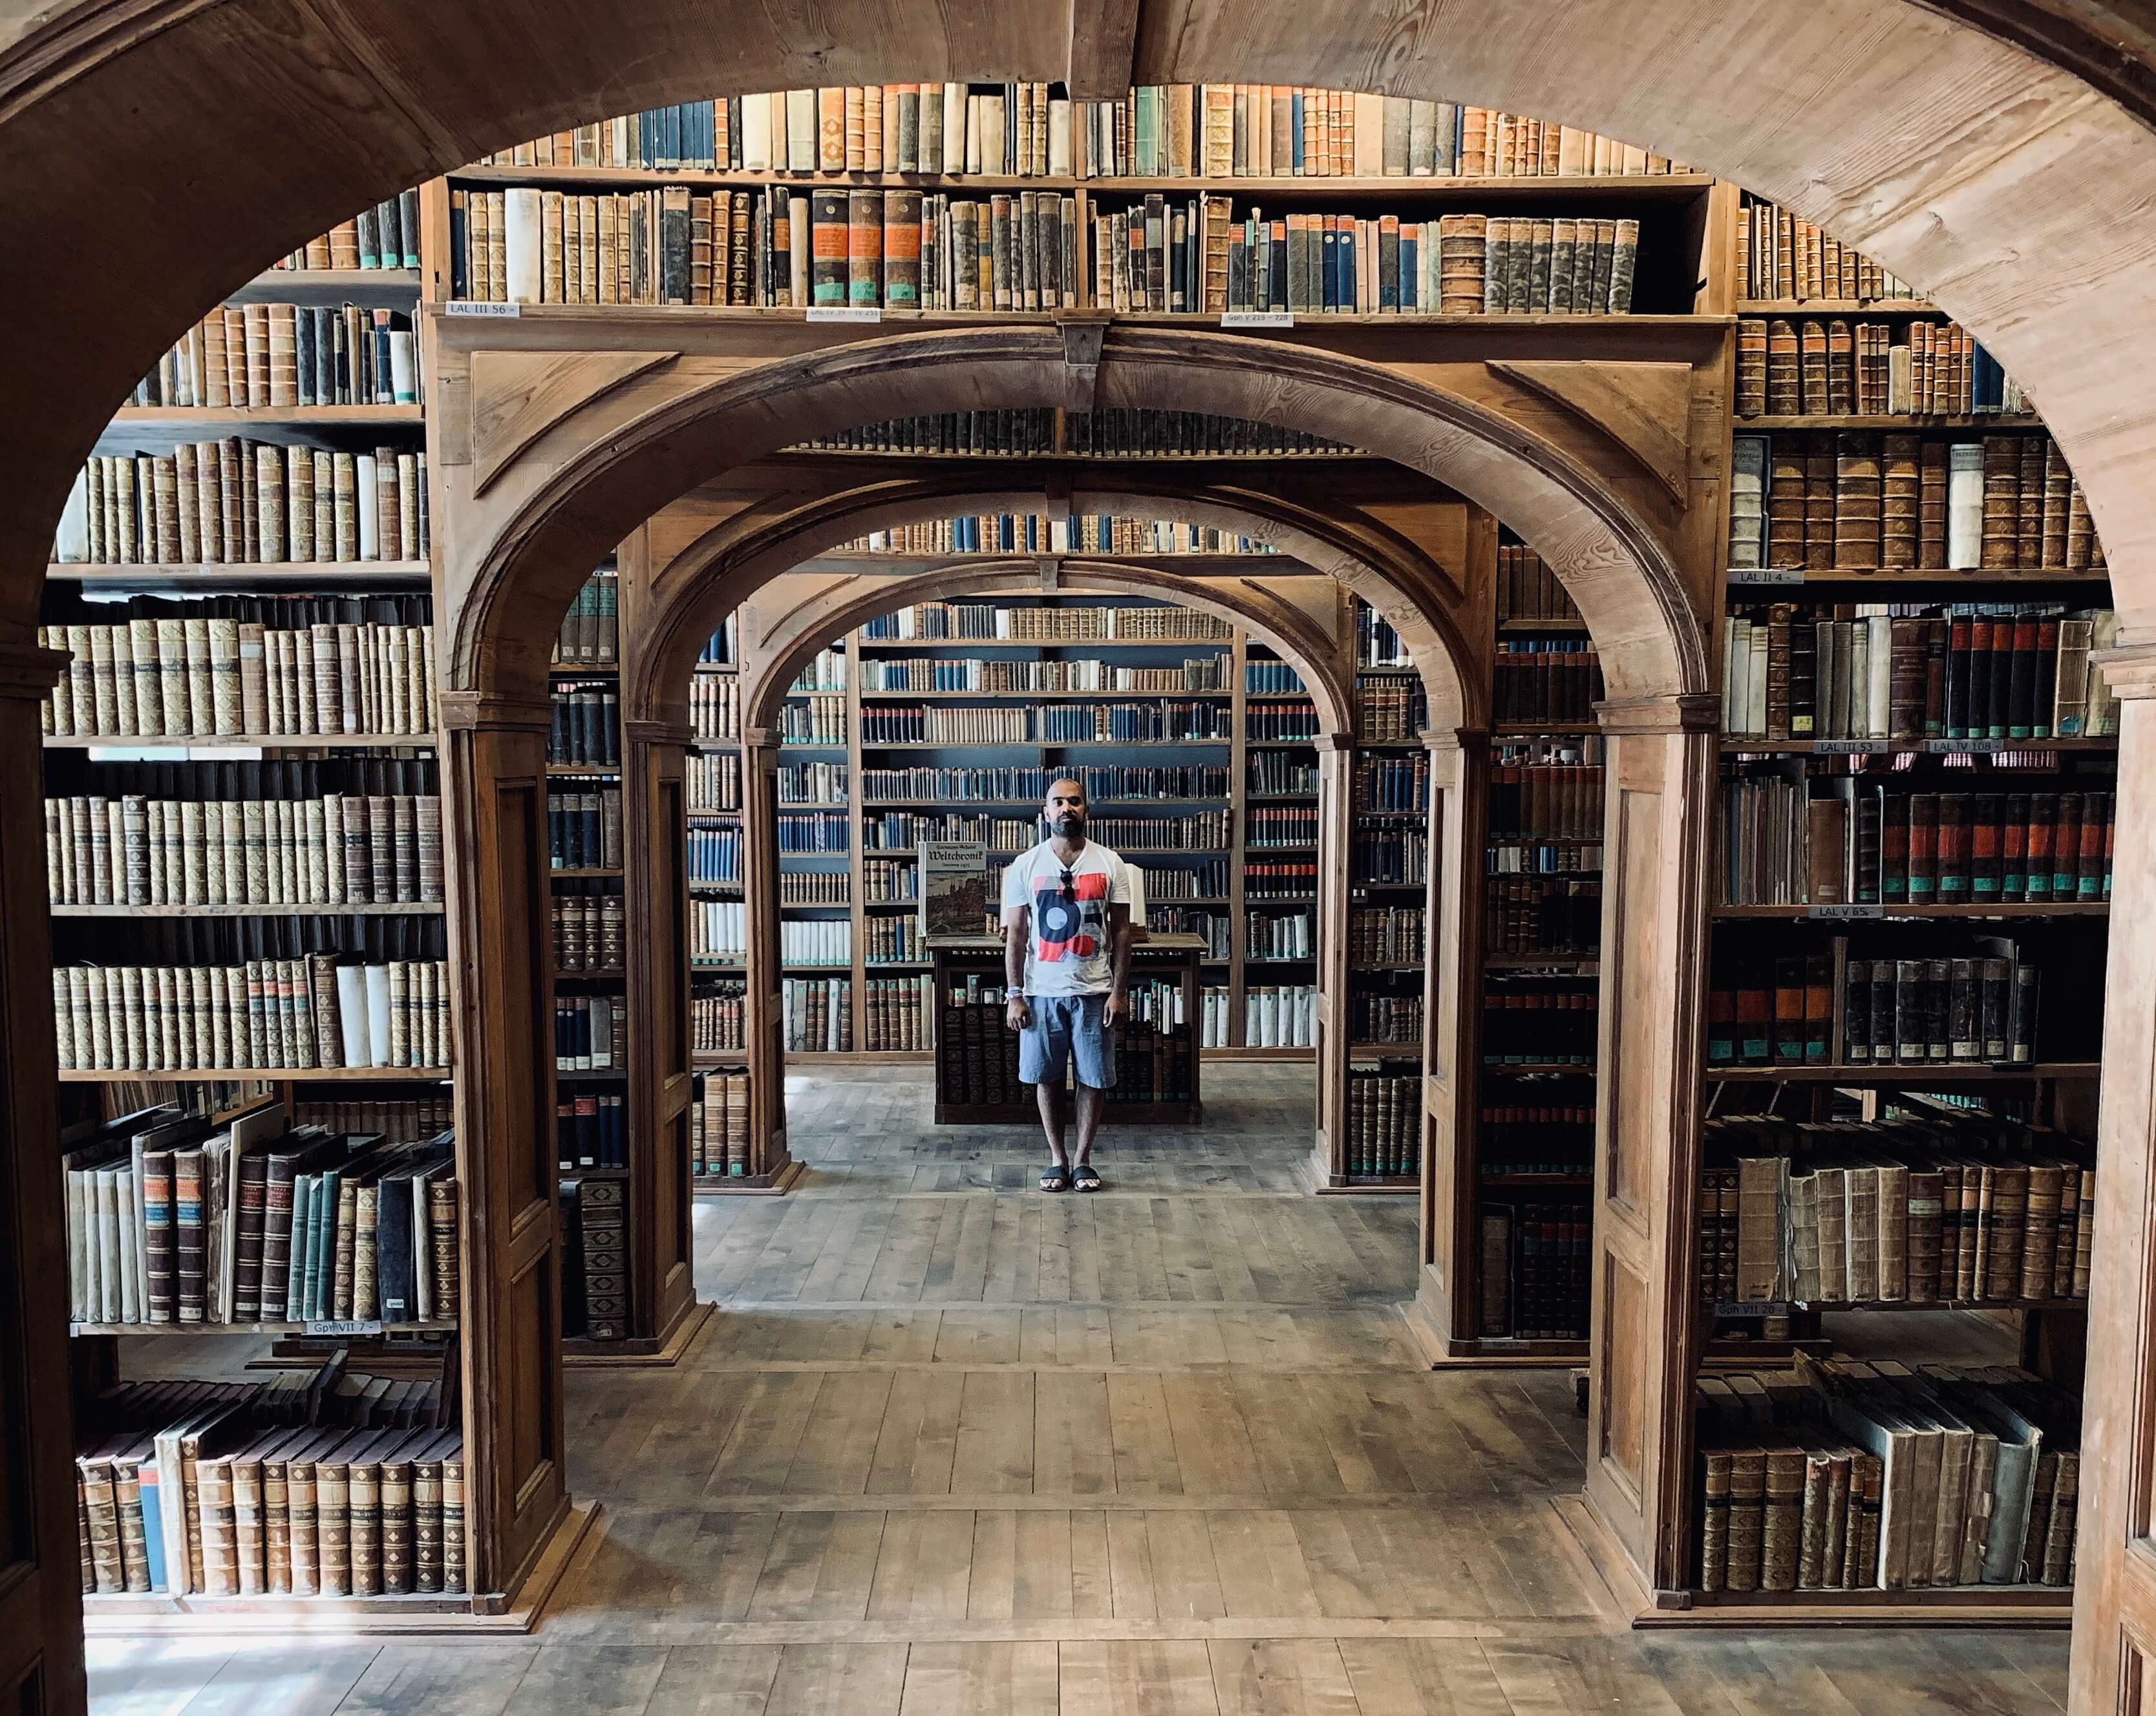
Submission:
M 1936 1097 L 1899 1106 L 1891 1121 L 1710 1121 L 1701 1293 L 1733 1281 L 1716 1302 L 2087 1298 L 2093 1147 Z

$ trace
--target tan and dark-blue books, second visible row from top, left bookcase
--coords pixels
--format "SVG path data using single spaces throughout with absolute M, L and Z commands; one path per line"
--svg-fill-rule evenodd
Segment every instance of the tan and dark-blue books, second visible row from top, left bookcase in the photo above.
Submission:
M 416 341 L 401 310 L 224 304 L 172 343 L 129 403 L 254 412 L 418 405 Z

